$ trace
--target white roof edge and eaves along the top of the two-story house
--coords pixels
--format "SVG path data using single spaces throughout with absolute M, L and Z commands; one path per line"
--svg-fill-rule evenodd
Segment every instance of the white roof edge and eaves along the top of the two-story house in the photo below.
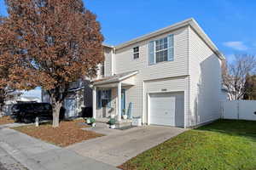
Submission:
M 225 59 L 224 58 L 224 54 L 222 54 L 218 50 L 216 45 L 207 36 L 205 31 L 203 31 L 201 29 L 201 26 L 199 26 L 199 24 L 195 21 L 194 18 L 189 18 L 188 20 L 183 20 L 181 22 L 177 22 L 176 24 L 173 24 L 172 26 L 167 26 L 167 27 L 162 28 L 162 29 L 160 29 L 158 31 L 153 31 L 153 32 L 151 32 L 149 34 L 143 35 L 141 37 L 137 37 L 137 38 L 132 39 L 131 41 L 128 41 L 128 42 L 121 43 L 121 44 L 119 44 L 117 46 L 109 46 L 109 45 L 107 46 L 106 45 L 106 47 L 108 47 L 108 48 L 111 47 L 111 48 L 115 48 L 115 49 L 125 48 L 127 46 L 132 45 L 133 43 L 142 42 L 142 41 L 147 40 L 147 39 L 149 39 L 151 37 L 156 37 L 156 36 L 159 36 L 161 34 L 164 34 L 164 33 L 168 32 L 168 31 L 177 30 L 179 28 L 182 28 L 183 26 L 191 26 L 195 30 L 195 32 L 202 38 L 202 40 L 207 43 L 207 46 L 212 49 L 212 51 L 218 56 L 219 59 Z

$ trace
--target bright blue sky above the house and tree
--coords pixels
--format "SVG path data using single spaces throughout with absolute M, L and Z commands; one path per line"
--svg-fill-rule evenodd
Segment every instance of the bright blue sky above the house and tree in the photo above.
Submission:
M 84 0 L 97 15 L 108 44 L 195 18 L 226 58 L 256 54 L 255 0 Z M 3 0 L 0 14 L 6 15 Z

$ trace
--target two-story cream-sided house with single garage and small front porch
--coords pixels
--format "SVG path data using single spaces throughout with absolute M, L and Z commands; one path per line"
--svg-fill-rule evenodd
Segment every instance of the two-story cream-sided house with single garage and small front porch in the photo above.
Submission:
M 93 116 L 140 116 L 144 124 L 193 127 L 221 116 L 218 51 L 194 19 L 129 42 L 105 45 L 104 77 L 93 80 Z

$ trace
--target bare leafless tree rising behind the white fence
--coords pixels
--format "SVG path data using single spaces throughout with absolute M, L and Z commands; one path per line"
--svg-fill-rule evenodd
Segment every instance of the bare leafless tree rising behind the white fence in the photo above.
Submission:
M 256 57 L 249 54 L 236 54 L 235 59 L 222 67 L 224 87 L 230 100 L 243 99 L 246 93 L 247 75 L 256 72 Z

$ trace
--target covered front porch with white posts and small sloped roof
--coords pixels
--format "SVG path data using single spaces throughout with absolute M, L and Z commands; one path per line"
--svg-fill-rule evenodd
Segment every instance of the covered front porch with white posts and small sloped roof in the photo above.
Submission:
M 93 117 L 96 121 L 108 122 L 111 116 L 118 123 L 130 122 L 132 103 L 127 101 L 129 88 L 135 85 L 138 71 L 105 77 L 93 82 Z M 124 115 L 127 119 L 123 119 Z

